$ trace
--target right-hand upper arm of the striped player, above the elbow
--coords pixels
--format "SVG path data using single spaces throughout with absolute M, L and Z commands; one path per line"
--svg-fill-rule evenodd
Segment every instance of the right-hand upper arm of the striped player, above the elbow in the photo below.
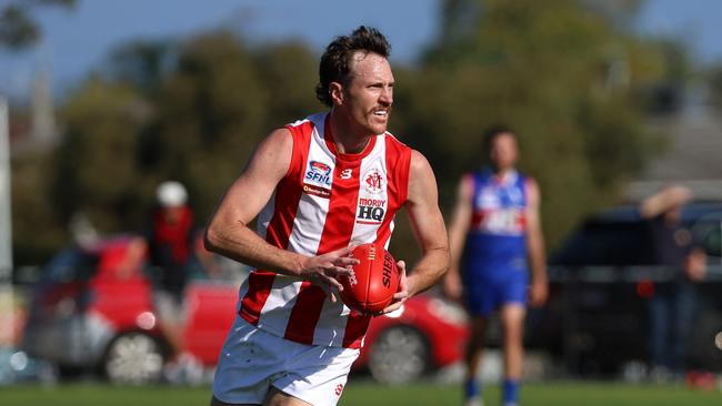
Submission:
M 448 248 L 447 229 L 439 210 L 437 180 L 427 159 L 413 151 L 407 212 L 422 251 Z

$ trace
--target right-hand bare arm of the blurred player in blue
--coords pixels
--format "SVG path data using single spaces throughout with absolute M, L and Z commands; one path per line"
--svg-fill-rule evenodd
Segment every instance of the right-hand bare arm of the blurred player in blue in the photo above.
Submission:
M 546 302 L 549 293 L 544 236 L 542 234 L 541 216 L 539 213 L 541 196 L 539 185 L 533 179 L 528 179 L 525 186 L 528 199 L 527 250 L 532 277 L 530 303 L 532 306 L 541 306 Z

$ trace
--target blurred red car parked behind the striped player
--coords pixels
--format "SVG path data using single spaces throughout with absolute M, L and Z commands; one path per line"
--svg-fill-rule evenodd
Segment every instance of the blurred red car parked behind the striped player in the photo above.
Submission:
M 146 255 L 138 238 L 116 237 L 58 254 L 37 284 L 23 349 L 60 366 L 93 368 L 117 383 L 163 378 L 174 355 L 159 326 Z M 140 246 L 144 246 L 141 245 Z M 193 280 L 184 293 L 183 353 L 214 366 L 235 317 L 234 281 Z M 461 359 L 465 315 L 455 304 L 422 295 L 371 322 L 354 368 L 384 383 L 408 382 Z

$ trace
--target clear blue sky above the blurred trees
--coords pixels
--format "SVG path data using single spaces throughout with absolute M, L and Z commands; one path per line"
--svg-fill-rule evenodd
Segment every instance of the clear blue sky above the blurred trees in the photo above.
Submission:
M 8 0 L 0 0 L 0 6 Z M 0 51 L 0 94 L 27 94 L 39 69 L 56 95 L 130 40 L 182 39 L 219 27 L 254 42 L 300 39 L 319 53 L 359 24 L 379 28 L 393 45 L 392 62 L 413 63 L 437 34 L 441 0 L 78 0 L 72 10 L 36 12 L 43 39 L 32 49 Z M 640 32 L 684 39 L 703 62 L 722 61 L 722 1 L 648 0 Z

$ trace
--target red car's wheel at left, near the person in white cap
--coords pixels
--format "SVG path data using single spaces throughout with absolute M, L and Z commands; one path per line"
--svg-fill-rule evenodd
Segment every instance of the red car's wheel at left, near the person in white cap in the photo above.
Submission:
M 148 384 L 161 379 L 166 357 L 158 341 L 143 333 L 116 337 L 108 347 L 103 369 L 116 384 Z

